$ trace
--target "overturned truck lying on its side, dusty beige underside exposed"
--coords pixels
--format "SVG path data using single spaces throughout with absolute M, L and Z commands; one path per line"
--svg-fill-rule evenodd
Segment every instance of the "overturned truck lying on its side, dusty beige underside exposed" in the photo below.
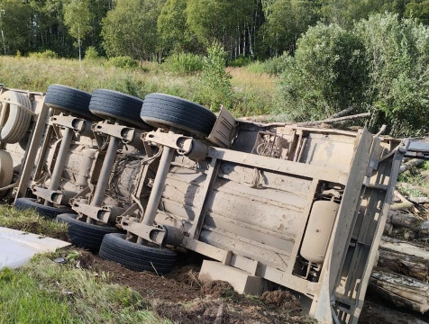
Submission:
M 72 242 L 132 270 L 168 273 L 184 247 L 242 292 L 274 283 L 320 322 L 358 321 L 413 142 L 237 121 L 167 94 L 96 90 L 67 109 L 76 95 L 47 95 L 19 207 L 59 214 Z

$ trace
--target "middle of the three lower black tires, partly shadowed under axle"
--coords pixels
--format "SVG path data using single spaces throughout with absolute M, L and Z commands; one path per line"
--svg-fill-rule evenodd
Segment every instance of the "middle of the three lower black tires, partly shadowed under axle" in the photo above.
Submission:
M 59 222 L 68 224 L 68 238 L 70 238 L 70 242 L 77 247 L 86 248 L 94 253 L 98 253 L 105 234 L 120 232 L 119 229 L 113 226 L 89 224 L 77 218 L 78 215 L 68 213 L 57 216 Z

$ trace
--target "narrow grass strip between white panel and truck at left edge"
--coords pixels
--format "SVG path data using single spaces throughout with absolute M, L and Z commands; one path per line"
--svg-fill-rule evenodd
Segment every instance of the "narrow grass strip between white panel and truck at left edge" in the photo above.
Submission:
M 0 227 L 23 230 L 50 238 L 68 239 L 67 225 L 45 220 L 35 211 L 18 211 L 7 205 L 0 205 Z

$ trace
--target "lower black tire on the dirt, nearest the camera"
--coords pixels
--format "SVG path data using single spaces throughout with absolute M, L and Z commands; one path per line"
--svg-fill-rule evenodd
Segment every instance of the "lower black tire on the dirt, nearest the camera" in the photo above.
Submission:
M 107 234 L 100 247 L 100 257 L 133 271 L 168 274 L 176 265 L 178 255 L 169 248 L 147 247 L 125 240 L 124 234 Z

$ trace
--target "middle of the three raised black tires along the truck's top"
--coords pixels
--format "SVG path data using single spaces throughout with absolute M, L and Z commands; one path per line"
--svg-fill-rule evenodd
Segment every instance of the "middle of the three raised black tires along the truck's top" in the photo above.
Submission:
M 114 118 L 129 123 L 142 130 L 151 127 L 141 121 L 140 111 L 143 101 L 129 94 L 117 91 L 98 89 L 92 94 L 89 110 L 102 118 Z

